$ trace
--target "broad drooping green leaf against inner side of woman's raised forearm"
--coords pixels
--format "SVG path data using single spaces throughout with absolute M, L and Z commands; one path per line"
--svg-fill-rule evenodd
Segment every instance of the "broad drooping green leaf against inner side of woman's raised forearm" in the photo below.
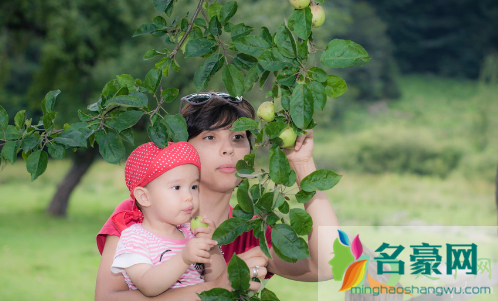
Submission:
M 271 232 L 271 240 L 273 246 L 287 258 L 296 260 L 310 256 L 306 241 L 297 236 L 294 229 L 289 225 L 275 225 Z

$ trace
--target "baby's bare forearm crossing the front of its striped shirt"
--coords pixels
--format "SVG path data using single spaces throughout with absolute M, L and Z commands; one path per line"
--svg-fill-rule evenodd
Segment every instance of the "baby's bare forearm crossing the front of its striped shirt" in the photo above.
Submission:
M 193 238 L 181 252 L 160 265 L 141 263 L 125 270 L 142 294 L 157 296 L 180 279 L 191 264 L 209 263 L 209 250 L 215 245 L 216 242 L 211 239 Z

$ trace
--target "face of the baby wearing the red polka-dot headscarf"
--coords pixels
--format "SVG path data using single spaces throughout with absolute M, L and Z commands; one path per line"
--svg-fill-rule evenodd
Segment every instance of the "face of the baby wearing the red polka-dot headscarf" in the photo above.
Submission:
M 147 190 L 149 217 L 174 225 L 189 222 L 199 208 L 199 169 L 192 164 L 172 168 L 147 184 Z

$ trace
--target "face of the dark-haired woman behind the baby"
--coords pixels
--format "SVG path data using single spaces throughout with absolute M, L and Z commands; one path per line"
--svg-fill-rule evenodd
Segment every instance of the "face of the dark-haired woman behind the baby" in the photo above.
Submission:
M 246 132 L 229 129 L 204 131 L 188 142 L 201 159 L 202 189 L 231 193 L 241 181 L 235 176 L 235 165 L 250 152 Z

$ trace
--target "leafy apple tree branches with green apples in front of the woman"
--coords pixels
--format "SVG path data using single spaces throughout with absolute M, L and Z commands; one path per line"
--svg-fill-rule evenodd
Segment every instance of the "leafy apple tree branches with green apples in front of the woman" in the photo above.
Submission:
M 243 180 L 237 191 L 234 217 L 217 228 L 213 239 L 228 244 L 253 230 L 261 249 L 271 257 L 265 239 L 269 226 L 273 249 L 282 260 L 296 262 L 309 257 L 308 245 L 300 236 L 310 233 L 313 221 L 305 210 L 289 206 L 290 197 L 304 204 L 317 190 L 334 187 L 341 176 L 319 169 L 299 183 L 297 193 L 291 193 L 296 173 L 281 148 L 292 148 L 298 135 L 315 127 L 314 112 L 323 110 L 328 98 L 346 92 L 346 82 L 324 67 L 361 67 L 369 62 L 368 53 L 349 40 L 314 43 L 313 31 L 320 30 L 316 28 L 325 21 L 320 6 L 324 0 L 290 0 L 296 9 L 276 32 L 265 26 L 255 30 L 249 24 L 237 23 L 237 1 L 221 4 L 200 0 L 195 10 L 185 16 L 174 16 L 176 0 L 152 2 L 158 15 L 140 25 L 133 36 L 152 35 L 164 41 L 164 48 L 144 54 L 143 59 L 156 60 L 145 78 L 117 75 L 87 110 L 75 112 L 80 122 L 62 128 L 54 126 L 57 112 L 53 109 L 59 90 L 46 94 L 41 102 L 43 116 L 37 121 L 27 119 L 22 110 L 9 124 L 9 116 L 0 106 L 2 164 L 14 163 L 21 153 L 35 180 L 45 171 L 49 157 L 62 159 L 67 151 L 97 146 L 104 160 L 117 164 L 125 157 L 124 143 L 134 143 L 133 127 L 142 118 L 148 119 L 148 136 L 158 147 L 167 146 L 168 141 L 186 141 L 185 119 L 163 108 L 164 103 L 178 100 L 179 90 L 162 83 L 170 73 L 182 68 L 177 62 L 179 55 L 202 60 L 193 79 L 198 91 L 209 90 L 217 72 L 221 72 L 226 91 L 233 96 L 243 95 L 254 85 L 263 87 L 271 80 L 272 88 L 266 96 L 272 101 L 258 109 L 260 118 L 240 118 L 233 124 L 235 130 L 254 134 L 255 147 L 269 152 L 269 165 L 256 167 L 255 153 L 237 163 L 237 175 Z M 217 288 L 201 293 L 201 299 L 278 300 L 267 289 L 258 294 L 248 292 L 250 272 L 237 256 L 231 259 L 228 273 L 233 291 Z

